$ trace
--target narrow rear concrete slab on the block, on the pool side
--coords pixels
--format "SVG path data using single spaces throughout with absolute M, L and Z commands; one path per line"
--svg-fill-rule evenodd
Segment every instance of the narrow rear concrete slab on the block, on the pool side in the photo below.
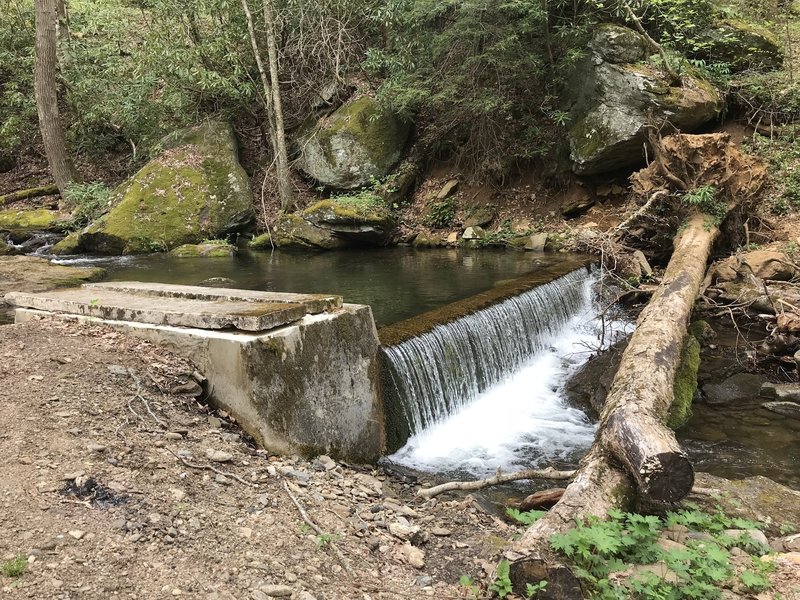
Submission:
M 195 285 L 173 285 L 169 283 L 145 283 L 142 281 L 107 281 L 85 286 L 98 290 L 127 292 L 139 296 L 161 296 L 187 298 L 190 300 L 231 300 L 241 302 L 278 302 L 302 304 L 308 314 L 336 310 L 342 306 L 342 297 L 331 294 L 291 294 L 286 292 L 262 292 L 233 288 L 201 287 Z

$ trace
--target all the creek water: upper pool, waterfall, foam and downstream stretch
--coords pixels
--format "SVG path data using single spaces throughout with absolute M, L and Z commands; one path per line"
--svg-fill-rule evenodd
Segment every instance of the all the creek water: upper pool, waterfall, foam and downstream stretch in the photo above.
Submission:
M 346 302 L 369 304 L 378 326 L 472 297 L 531 271 L 542 281 L 556 279 L 385 349 L 395 401 L 407 421 L 407 431 L 385 460 L 441 478 L 483 477 L 498 467 L 574 466 L 591 444 L 596 425 L 566 402 L 564 386 L 592 352 L 631 328 L 624 318 L 598 321 L 597 274 L 578 268 L 583 258 L 556 254 L 387 248 L 56 262 L 103 266 L 112 281 L 197 285 L 227 278 L 229 287 L 336 293 Z M 724 340 L 723 332 L 721 347 Z M 717 361 L 703 377 L 723 377 L 736 360 L 731 355 Z M 698 471 L 727 477 L 763 474 L 800 488 L 798 432 L 800 422 L 769 413 L 753 399 L 725 408 L 696 404 L 691 421 L 677 435 Z

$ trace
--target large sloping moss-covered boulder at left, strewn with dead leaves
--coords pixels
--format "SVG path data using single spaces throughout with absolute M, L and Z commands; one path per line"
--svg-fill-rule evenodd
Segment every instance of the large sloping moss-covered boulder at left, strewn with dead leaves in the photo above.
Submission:
M 229 125 L 208 122 L 182 130 L 161 146 L 157 158 L 114 191 L 108 213 L 52 252 L 167 252 L 250 226 L 253 198 Z

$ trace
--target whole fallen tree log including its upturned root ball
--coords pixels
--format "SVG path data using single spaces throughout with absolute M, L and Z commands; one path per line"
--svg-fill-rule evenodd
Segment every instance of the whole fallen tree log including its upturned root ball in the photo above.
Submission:
M 742 155 L 722 134 L 676 135 L 653 143 L 662 144 L 655 152 L 660 161 L 679 164 L 653 163 L 634 175 L 641 197 L 652 197 L 657 189 L 714 186 L 728 212 L 763 183 L 763 165 Z M 676 172 L 682 175 L 680 186 L 672 181 Z M 577 578 L 550 550 L 554 534 L 565 533 L 576 519 L 604 518 L 612 508 L 630 510 L 640 502 L 676 502 L 692 489 L 692 465 L 664 422 L 689 317 L 718 233 L 718 221 L 693 212 L 675 235 L 662 282 L 623 353 L 592 448 L 561 500 L 506 553 L 515 591 L 547 579 L 556 586 L 548 583 L 542 598 L 582 598 Z

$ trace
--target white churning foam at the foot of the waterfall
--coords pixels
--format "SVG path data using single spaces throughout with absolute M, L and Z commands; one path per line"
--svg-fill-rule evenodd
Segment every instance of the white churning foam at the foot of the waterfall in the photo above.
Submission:
M 616 331 L 624 326 L 613 324 Z M 459 412 L 412 436 L 389 459 L 419 471 L 476 477 L 498 467 L 510 471 L 574 460 L 591 445 L 596 425 L 567 406 L 562 387 L 589 358 L 589 349 L 598 346 L 597 330 L 588 313 L 573 318 L 549 349 Z

